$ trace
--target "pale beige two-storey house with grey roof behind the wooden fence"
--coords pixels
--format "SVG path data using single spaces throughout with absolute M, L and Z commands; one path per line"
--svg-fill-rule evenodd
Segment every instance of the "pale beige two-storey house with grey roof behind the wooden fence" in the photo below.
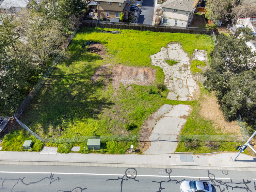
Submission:
M 161 5 L 161 25 L 189 27 L 199 0 L 167 0 Z

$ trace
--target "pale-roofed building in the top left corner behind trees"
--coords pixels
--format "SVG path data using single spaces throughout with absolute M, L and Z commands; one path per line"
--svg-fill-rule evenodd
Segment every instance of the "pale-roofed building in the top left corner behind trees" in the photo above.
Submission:
M 29 0 L 4 0 L 0 5 L 1 13 L 13 14 L 27 8 Z

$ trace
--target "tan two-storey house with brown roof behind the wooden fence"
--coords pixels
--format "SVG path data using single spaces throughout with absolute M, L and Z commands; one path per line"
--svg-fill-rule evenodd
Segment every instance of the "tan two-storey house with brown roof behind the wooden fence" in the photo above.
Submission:
M 120 18 L 120 13 L 123 12 L 125 19 L 128 19 L 128 14 L 131 6 L 126 4 L 125 0 L 99 0 L 97 1 L 99 19 Z

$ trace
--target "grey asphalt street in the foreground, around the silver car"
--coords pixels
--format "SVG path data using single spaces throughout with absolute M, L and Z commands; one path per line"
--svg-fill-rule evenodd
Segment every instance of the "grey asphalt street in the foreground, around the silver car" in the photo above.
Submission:
M 252 171 L 75 166 L 0 166 L 0 191 L 180 191 L 180 182 L 207 180 L 215 192 L 255 192 Z

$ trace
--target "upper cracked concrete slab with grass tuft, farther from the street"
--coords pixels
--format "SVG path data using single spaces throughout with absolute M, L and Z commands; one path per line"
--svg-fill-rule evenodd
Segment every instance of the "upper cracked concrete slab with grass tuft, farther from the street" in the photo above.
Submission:
M 189 57 L 179 43 L 169 43 L 161 51 L 150 56 L 152 65 L 159 66 L 165 74 L 164 84 L 171 90 L 167 99 L 189 101 L 199 93 L 199 86 L 192 77 Z M 166 60 L 177 61 L 170 66 Z

